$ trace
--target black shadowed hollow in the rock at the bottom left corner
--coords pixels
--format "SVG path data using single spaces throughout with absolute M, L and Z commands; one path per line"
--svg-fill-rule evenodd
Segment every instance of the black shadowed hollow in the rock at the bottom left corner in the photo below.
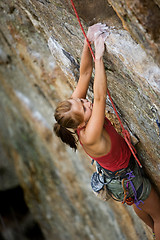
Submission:
M 44 236 L 27 208 L 18 186 L 0 191 L 0 239 L 44 240 Z

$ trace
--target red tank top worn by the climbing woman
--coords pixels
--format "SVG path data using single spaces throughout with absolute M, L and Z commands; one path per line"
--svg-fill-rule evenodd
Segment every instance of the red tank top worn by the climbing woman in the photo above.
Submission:
M 105 118 L 106 123 L 104 124 L 104 128 L 110 136 L 111 139 L 111 150 L 108 154 L 93 158 L 96 160 L 103 168 L 106 168 L 112 172 L 117 171 L 122 168 L 126 168 L 129 164 L 129 159 L 131 157 L 131 151 L 128 148 L 124 138 L 117 133 L 111 122 L 108 118 Z M 79 136 L 79 132 L 81 129 L 77 129 L 77 134 Z M 81 142 L 80 142 L 81 143 Z M 81 143 L 82 145 L 82 143 Z M 83 145 L 82 145 L 83 147 Z

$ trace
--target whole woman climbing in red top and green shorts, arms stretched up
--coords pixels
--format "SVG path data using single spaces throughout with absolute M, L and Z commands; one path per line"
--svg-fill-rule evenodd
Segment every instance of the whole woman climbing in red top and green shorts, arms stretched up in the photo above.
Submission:
M 58 104 L 54 131 L 75 150 L 78 137 L 85 152 L 102 167 L 108 191 L 122 202 L 132 202 L 136 214 L 160 240 L 160 198 L 149 180 L 141 175 L 123 137 L 105 117 L 107 78 L 103 53 L 106 36 L 104 24 L 95 24 L 88 29 L 88 40 L 95 46 L 93 104 L 86 100 L 93 63 L 85 40 L 77 87 L 70 99 Z

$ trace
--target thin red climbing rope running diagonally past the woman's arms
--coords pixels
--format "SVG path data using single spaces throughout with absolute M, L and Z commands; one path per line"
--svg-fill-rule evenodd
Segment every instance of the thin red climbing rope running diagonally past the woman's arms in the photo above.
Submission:
M 79 22 L 80 28 L 81 28 L 81 30 L 82 30 L 82 32 L 83 32 L 83 35 L 84 35 L 84 37 L 85 37 L 85 39 L 86 39 L 86 41 L 87 41 L 87 44 L 88 44 L 88 47 L 89 47 L 90 52 L 91 52 L 91 54 L 92 54 L 92 57 L 93 57 L 93 59 L 94 59 L 94 61 L 95 61 L 95 56 L 94 56 L 92 47 L 91 47 L 90 42 L 89 42 L 89 40 L 88 40 L 88 38 L 87 38 L 87 35 L 86 35 L 85 31 L 84 31 L 84 28 L 83 28 L 83 26 L 82 26 L 82 24 L 81 24 L 81 21 L 80 21 L 79 15 L 78 15 L 78 13 L 77 13 L 77 10 L 76 10 L 76 8 L 75 8 L 75 5 L 74 5 L 73 0 L 71 0 L 71 4 L 72 4 L 73 10 L 74 10 L 74 12 L 75 12 L 75 15 L 76 15 L 76 17 L 77 17 L 77 20 L 78 20 L 78 22 Z M 112 98 L 111 98 L 111 95 L 110 95 L 110 92 L 109 92 L 108 88 L 107 88 L 107 94 L 108 94 L 108 96 L 109 96 L 109 99 L 110 99 L 110 102 L 111 102 L 111 104 L 112 104 L 112 107 L 113 107 L 113 109 L 114 109 L 114 111 L 115 111 L 115 114 L 116 114 L 116 116 L 117 116 L 117 118 L 118 118 L 118 120 L 119 120 L 120 126 L 121 126 L 121 128 L 122 128 L 122 134 L 123 134 L 123 136 L 124 136 L 124 139 L 125 139 L 128 147 L 129 147 L 130 151 L 132 152 L 134 158 L 136 159 L 137 163 L 138 163 L 139 166 L 142 168 L 142 165 L 141 165 L 140 161 L 138 160 L 138 158 L 137 158 L 137 156 L 136 156 L 136 150 L 135 150 L 135 148 L 133 147 L 133 145 L 131 144 L 130 134 L 129 134 L 129 132 L 124 128 L 124 126 L 123 126 L 123 124 L 122 124 L 122 121 L 121 121 L 121 119 L 120 119 L 120 117 L 119 117 L 119 115 L 118 115 L 118 112 L 117 112 L 116 107 L 115 107 L 115 105 L 114 105 L 114 103 L 113 103 L 113 100 L 112 100 Z

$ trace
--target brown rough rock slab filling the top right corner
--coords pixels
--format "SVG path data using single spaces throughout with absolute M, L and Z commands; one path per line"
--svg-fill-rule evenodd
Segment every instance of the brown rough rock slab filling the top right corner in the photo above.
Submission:
M 154 0 L 109 0 L 123 26 L 160 64 L 160 9 Z

